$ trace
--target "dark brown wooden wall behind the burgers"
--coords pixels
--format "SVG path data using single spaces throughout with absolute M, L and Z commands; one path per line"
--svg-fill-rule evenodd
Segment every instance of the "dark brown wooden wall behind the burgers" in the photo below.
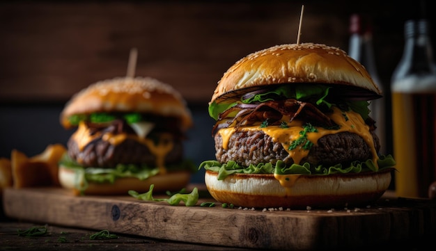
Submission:
M 403 21 L 419 1 L 10 1 L 0 3 L 1 102 L 65 102 L 102 79 L 136 74 L 208 102 L 223 72 L 247 54 L 301 42 L 348 49 L 352 13 L 373 18 L 382 80 L 403 49 Z M 387 83 L 386 83 L 387 84 Z

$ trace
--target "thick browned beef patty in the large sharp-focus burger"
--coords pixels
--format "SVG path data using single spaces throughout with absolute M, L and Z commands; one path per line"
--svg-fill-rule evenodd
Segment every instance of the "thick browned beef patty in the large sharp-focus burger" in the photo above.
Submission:
M 380 143 L 375 133 L 372 133 L 375 149 L 380 149 Z M 293 164 L 281 143 L 274 143 L 272 138 L 263 131 L 237 131 L 228 142 L 228 149 L 222 147 L 222 138 L 215 134 L 216 158 L 220 163 L 235 161 L 243 166 L 258 163 L 276 163 L 278 160 Z M 370 147 L 364 139 L 355 133 L 341 132 L 323 136 L 313 145 L 302 163 L 314 165 L 335 165 L 352 161 L 366 161 L 372 158 Z

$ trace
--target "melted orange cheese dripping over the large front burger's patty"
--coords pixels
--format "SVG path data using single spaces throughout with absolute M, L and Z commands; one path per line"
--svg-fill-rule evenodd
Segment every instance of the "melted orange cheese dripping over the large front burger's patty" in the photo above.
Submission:
M 343 131 L 349 131 L 350 133 L 355 133 L 361 138 L 363 138 L 366 144 L 370 147 L 371 153 L 373 154 L 373 162 L 377 166 L 377 151 L 375 150 L 375 145 L 373 141 L 373 136 L 369 131 L 369 126 L 365 124 L 364 120 L 361 118 L 359 113 L 355 111 L 341 111 L 336 106 L 333 107 L 333 113 L 328 115 L 336 124 L 338 124 L 339 129 L 325 129 L 322 127 L 316 127 L 318 132 L 308 132 L 306 137 L 308 140 L 317 145 L 318 139 L 327 134 L 336 134 Z M 283 120 L 286 121 L 286 120 Z M 298 146 L 295 149 L 290 150 L 289 146 L 297 138 L 300 137 L 299 132 L 304 131 L 303 122 L 299 120 L 293 120 L 288 124 L 288 128 L 282 128 L 280 126 L 268 126 L 261 128 L 259 125 L 254 125 L 251 127 L 240 127 L 241 131 L 263 131 L 265 134 L 272 138 L 274 143 L 281 143 L 283 148 L 286 149 L 289 156 L 293 159 L 294 163 L 299 164 L 300 161 L 309 154 L 309 150 L 303 149 L 302 146 Z M 228 127 L 220 129 L 218 133 L 221 135 L 224 149 L 228 149 L 228 142 L 235 132 L 234 127 Z

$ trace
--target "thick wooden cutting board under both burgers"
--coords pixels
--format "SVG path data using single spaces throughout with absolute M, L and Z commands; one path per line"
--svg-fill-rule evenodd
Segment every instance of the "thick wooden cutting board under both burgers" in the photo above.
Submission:
M 153 197 L 155 197 L 153 195 Z M 62 188 L 6 188 L 6 216 L 171 241 L 240 248 L 313 250 L 362 247 L 436 233 L 436 202 L 385 195 L 371 207 L 241 209 L 71 195 Z

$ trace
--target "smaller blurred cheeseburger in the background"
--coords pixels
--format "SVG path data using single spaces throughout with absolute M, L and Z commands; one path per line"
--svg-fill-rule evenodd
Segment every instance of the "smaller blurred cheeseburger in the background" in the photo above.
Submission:
M 196 170 L 184 158 L 193 126 L 179 92 L 150 77 L 93 83 L 65 104 L 65 129 L 76 129 L 59 163 L 59 182 L 76 195 L 184 188 Z

